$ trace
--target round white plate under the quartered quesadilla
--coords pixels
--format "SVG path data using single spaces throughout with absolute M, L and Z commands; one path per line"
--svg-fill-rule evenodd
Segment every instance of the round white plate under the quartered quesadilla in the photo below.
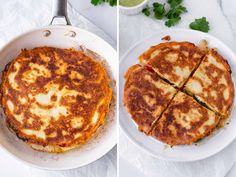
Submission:
M 232 76 L 235 83 L 236 56 L 223 42 L 209 34 L 194 30 L 177 29 L 160 32 L 137 43 L 136 45 L 131 47 L 131 49 L 129 49 L 128 52 L 122 57 L 122 60 L 120 62 L 119 76 L 119 94 L 121 100 L 119 103 L 120 125 L 126 135 L 132 140 L 132 142 L 157 158 L 170 161 L 195 161 L 204 159 L 221 151 L 234 140 L 236 136 L 235 106 L 233 106 L 233 110 L 231 113 L 230 124 L 226 125 L 225 128 L 219 129 L 211 137 L 206 137 L 197 145 L 193 144 L 185 146 L 175 146 L 173 148 L 170 148 L 167 147 L 167 145 L 165 145 L 164 143 L 139 132 L 136 124 L 131 119 L 122 103 L 123 88 L 125 83 L 123 77 L 124 73 L 130 66 L 138 63 L 138 56 L 142 52 L 146 51 L 152 45 L 163 42 L 161 38 L 166 35 L 170 35 L 172 41 L 190 41 L 195 44 L 199 44 L 202 39 L 207 40 L 209 42 L 209 46 L 216 47 L 219 50 L 220 54 L 229 62 L 233 72 Z

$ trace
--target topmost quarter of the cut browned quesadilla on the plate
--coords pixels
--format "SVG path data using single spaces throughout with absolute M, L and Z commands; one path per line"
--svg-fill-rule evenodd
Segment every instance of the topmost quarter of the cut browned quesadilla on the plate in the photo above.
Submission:
M 203 53 L 193 43 L 166 42 L 151 47 L 139 60 L 160 77 L 181 88 L 202 58 Z

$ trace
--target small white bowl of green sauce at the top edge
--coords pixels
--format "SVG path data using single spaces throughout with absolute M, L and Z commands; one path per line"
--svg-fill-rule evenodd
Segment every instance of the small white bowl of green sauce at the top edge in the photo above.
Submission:
M 121 13 L 125 15 L 136 15 L 140 13 L 149 0 L 119 0 Z

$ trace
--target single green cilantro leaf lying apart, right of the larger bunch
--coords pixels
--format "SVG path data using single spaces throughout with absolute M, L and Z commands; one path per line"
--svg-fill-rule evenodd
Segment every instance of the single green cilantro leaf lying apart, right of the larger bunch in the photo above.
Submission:
M 206 17 L 195 19 L 194 22 L 189 24 L 189 27 L 202 32 L 208 32 L 210 30 L 209 22 L 206 20 Z

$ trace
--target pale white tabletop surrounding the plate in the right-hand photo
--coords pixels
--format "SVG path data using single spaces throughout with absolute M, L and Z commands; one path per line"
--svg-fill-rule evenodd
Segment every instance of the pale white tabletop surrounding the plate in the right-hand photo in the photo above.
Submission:
M 158 2 L 166 2 L 166 0 Z M 232 29 L 236 29 L 236 22 L 233 22 L 236 19 L 236 2 L 234 0 L 223 0 L 222 2 L 216 0 L 185 0 L 184 5 L 188 9 L 188 13 L 182 16 L 181 22 L 174 28 L 188 28 L 189 23 L 195 18 L 205 16 L 210 23 L 209 33 L 236 51 L 235 36 L 232 31 Z M 227 16 L 229 16 L 228 19 Z M 162 21 L 151 19 L 143 14 L 137 16 L 121 14 L 120 56 L 134 43 L 165 29 L 168 28 Z M 119 140 L 120 157 L 146 177 L 223 177 L 236 160 L 236 141 L 220 153 L 205 160 L 178 163 L 151 157 L 133 145 L 122 131 Z

